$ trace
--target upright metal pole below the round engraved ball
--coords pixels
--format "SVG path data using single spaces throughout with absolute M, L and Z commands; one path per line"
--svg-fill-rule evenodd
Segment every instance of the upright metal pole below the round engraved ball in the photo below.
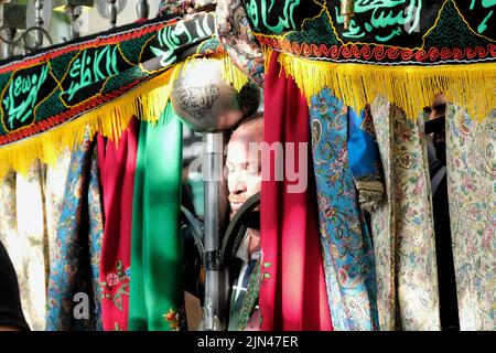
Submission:
M 224 170 L 224 133 L 205 132 L 205 312 L 204 330 L 226 330 L 228 272 L 220 264 L 222 236 L 227 220 L 227 184 Z

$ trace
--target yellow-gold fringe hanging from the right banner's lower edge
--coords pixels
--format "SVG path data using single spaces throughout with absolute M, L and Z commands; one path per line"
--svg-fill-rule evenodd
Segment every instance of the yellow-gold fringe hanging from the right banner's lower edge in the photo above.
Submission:
M 309 105 L 310 98 L 327 86 L 356 110 L 382 95 L 405 109 L 411 119 L 432 105 L 436 93 L 444 93 L 448 101 L 465 107 L 479 120 L 496 107 L 494 63 L 429 67 L 336 64 L 287 53 L 280 54 L 279 62 L 287 76 L 294 78 Z

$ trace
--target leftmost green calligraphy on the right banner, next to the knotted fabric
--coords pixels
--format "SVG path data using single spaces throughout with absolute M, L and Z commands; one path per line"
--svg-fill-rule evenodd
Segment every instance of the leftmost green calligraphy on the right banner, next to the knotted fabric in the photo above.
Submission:
M 268 4 L 270 1 L 270 4 Z M 274 34 L 279 34 L 287 30 L 295 30 L 294 25 L 294 10 L 300 4 L 300 0 L 287 0 L 284 1 L 283 9 L 274 9 L 276 0 L 248 0 L 245 3 L 246 13 L 251 21 L 251 25 L 256 30 L 260 30 L 260 26 L 263 25 L 270 32 Z M 260 6 L 260 9 L 258 8 Z M 271 22 L 270 13 L 280 12 L 280 15 L 277 17 L 274 23 Z M 261 23 L 260 23 L 261 20 Z

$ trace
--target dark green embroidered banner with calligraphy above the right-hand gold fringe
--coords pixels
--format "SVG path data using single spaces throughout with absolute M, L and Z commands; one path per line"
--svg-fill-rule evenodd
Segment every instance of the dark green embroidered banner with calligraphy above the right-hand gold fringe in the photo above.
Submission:
M 380 65 L 496 61 L 496 0 L 246 0 L 259 42 L 311 60 Z

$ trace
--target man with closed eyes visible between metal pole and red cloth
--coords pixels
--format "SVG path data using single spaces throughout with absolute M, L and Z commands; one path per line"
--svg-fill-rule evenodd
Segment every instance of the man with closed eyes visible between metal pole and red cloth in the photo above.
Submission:
M 260 152 L 250 153 L 250 143 L 260 143 L 262 138 L 261 113 L 244 119 L 230 136 L 226 158 L 230 217 L 261 190 Z M 236 257 L 237 263 L 230 269 L 233 291 L 228 330 L 258 330 L 260 229 L 246 228 Z

